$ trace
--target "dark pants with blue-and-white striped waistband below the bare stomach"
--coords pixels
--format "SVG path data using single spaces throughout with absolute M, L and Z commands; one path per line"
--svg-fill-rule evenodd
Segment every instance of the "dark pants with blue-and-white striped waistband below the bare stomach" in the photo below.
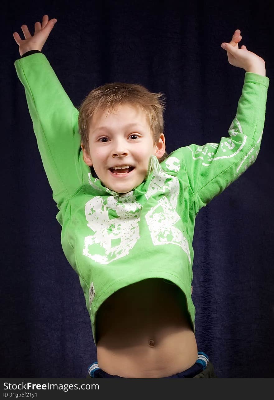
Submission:
M 118 376 L 118 375 L 111 375 L 108 374 L 107 372 L 103 371 L 101 368 L 99 368 L 98 364 L 93 363 L 89 367 L 90 370 L 92 370 L 92 375 L 90 374 L 87 375 L 87 378 L 124 378 L 123 376 Z M 218 378 L 218 376 L 215 375 L 214 373 L 214 366 L 212 363 L 208 360 L 208 357 L 206 356 L 205 353 L 203 352 L 198 352 L 198 358 L 197 362 L 193 364 L 190 368 L 183 372 L 179 372 L 178 374 L 174 374 L 171 376 L 165 376 L 164 378 L 160 379 L 165 379 L 165 378 Z

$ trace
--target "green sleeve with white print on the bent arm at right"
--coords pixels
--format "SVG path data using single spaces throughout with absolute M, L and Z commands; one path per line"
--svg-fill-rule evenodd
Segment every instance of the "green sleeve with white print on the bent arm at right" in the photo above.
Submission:
M 189 184 L 198 209 L 234 182 L 258 156 L 269 78 L 246 72 L 242 95 L 228 134 L 220 143 L 183 148 Z

